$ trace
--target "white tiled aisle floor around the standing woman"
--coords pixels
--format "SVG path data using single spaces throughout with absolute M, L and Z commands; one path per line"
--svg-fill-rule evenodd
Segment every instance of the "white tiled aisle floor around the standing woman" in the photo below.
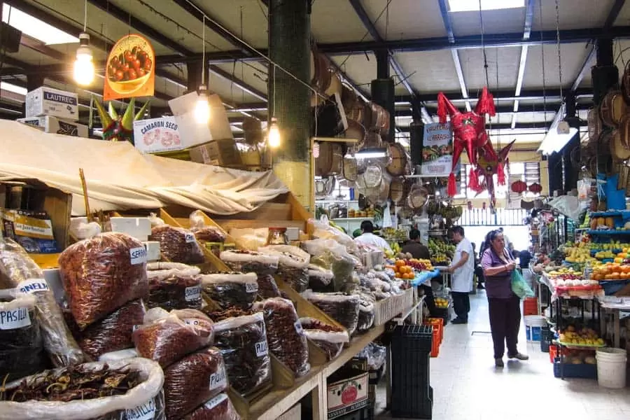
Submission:
M 471 296 L 471 307 L 468 325 L 447 325 L 440 356 L 430 360 L 433 420 L 630 419 L 630 388 L 609 390 L 594 380 L 554 378 L 548 353 L 538 343 L 526 344 L 524 328 L 519 350 L 530 360 L 495 369 L 490 335 L 475 332 L 490 330 L 485 294 Z M 376 411 L 382 413 L 384 389 L 377 399 Z

